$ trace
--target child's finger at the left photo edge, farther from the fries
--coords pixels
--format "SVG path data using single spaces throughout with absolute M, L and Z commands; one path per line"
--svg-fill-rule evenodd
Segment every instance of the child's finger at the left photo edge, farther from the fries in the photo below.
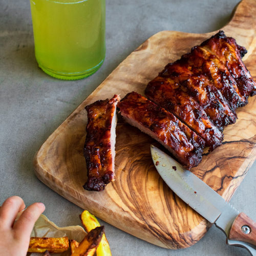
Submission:
M 5 200 L 0 207 L 0 226 L 11 227 L 19 211 L 25 208 L 22 198 L 13 196 Z

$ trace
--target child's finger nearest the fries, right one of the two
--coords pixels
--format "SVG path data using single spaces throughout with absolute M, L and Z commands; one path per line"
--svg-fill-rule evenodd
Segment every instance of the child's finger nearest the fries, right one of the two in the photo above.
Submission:
M 29 241 L 34 224 L 44 210 L 43 203 L 31 204 L 13 225 L 16 236 Z

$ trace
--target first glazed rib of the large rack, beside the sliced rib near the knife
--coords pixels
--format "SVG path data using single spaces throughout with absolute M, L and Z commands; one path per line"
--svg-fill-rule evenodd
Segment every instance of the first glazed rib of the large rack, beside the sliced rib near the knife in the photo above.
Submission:
M 145 90 L 146 96 L 176 115 L 205 140 L 205 144 L 210 147 L 210 150 L 214 150 L 215 147 L 221 145 L 222 133 L 210 121 L 195 97 L 182 90 L 179 83 L 175 81 L 176 78 L 166 77 L 168 66 L 172 65 L 166 66 L 163 72 L 164 76 L 159 75 L 148 83 Z

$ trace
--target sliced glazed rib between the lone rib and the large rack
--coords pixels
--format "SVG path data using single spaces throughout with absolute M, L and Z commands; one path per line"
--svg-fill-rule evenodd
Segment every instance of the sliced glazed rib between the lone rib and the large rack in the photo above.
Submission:
M 126 122 L 160 142 L 186 168 L 200 163 L 204 140 L 172 113 L 135 92 L 127 94 L 117 107 Z

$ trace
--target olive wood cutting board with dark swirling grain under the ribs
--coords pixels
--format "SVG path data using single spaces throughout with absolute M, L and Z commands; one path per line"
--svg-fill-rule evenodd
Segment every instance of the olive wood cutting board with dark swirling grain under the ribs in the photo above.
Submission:
M 224 30 L 248 53 L 243 58 L 256 79 L 256 1 L 243 0 Z M 217 31 L 190 34 L 161 31 L 147 39 L 85 99 L 41 146 L 34 159 L 35 174 L 61 196 L 88 209 L 100 219 L 127 233 L 165 248 L 183 248 L 199 241 L 209 223 L 179 199 L 160 178 L 149 136 L 125 124 L 117 124 L 116 180 L 104 191 L 84 190 L 87 179 L 83 144 L 87 113 L 84 107 L 96 100 L 121 98 L 131 91 L 144 95 L 146 84 L 190 48 Z M 256 158 L 256 96 L 238 109 L 238 121 L 224 129 L 224 142 L 192 172 L 229 200 Z

